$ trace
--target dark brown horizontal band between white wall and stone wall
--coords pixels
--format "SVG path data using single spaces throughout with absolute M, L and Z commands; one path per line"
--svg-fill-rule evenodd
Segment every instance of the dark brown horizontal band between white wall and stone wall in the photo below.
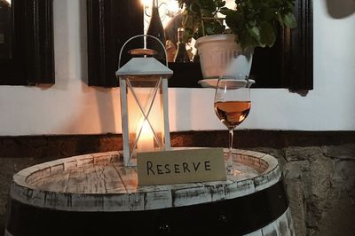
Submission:
M 227 146 L 227 130 L 170 134 L 171 146 Z M 234 146 L 330 146 L 355 143 L 355 131 L 237 130 Z M 1 157 L 60 158 L 122 150 L 121 134 L 0 137 Z

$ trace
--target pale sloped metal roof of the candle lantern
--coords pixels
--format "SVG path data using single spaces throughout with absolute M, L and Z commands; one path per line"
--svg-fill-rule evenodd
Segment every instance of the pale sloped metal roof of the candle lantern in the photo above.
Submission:
M 173 74 L 169 67 L 165 67 L 154 58 L 132 58 L 116 71 L 116 75 L 166 75 Z

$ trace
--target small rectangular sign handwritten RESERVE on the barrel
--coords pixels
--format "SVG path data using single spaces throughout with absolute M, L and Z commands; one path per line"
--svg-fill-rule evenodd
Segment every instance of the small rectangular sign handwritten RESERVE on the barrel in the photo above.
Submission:
M 226 180 L 223 148 L 138 153 L 138 185 Z

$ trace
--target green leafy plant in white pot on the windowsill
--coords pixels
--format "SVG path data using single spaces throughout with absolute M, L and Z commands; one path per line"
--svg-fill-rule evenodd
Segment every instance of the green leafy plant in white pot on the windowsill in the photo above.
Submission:
M 254 48 L 272 47 L 278 28 L 296 27 L 294 0 L 235 0 L 233 8 L 223 0 L 177 1 L 205 79 L 249 75 Z

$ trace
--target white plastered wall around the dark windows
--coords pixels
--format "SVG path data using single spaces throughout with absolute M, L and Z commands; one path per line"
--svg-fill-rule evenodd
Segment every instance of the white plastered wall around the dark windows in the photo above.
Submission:
M 252 111 L 239 129 L 355 130 L 355 2 L 339 19 L 314 6 L 314 90 L 252 90 Z M 54 0 L 56 83 L 0 86 L 0 136 L 120 133 L 118 89 L 88 87 L 85 0 Z M 346 2 L 346 1 L 345 1 Z M 213 90 L 170 89 L 170 130 L 223 130 Z

